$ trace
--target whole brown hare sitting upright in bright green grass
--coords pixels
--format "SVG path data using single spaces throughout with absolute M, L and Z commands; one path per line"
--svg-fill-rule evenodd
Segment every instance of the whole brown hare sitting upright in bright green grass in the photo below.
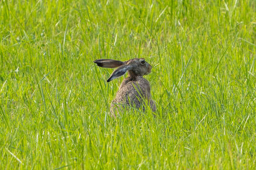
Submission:
M 116 94 L 116 98 L 111 102 L 111 116 L 116 117 L 118 107 L 135 106 L 145 110 L 145 104 L 149 104 L 153 112 L 156 110 L 155 102 L 151 99 L 149 82 L 143 78 L 151 72 L 151 65 L 145 59 L 130 59 L 119 61 L 114 59 L 96 59 L 94 61 L 102 68 L 117 68 L 113 71 L 107 82 L 124 75 L 128 71 Z

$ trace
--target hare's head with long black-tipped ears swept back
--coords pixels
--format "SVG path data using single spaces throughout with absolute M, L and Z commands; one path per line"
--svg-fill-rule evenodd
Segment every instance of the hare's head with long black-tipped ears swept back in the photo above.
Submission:
M 117 68 L 113 71 L 107 82 L 124 75 L 127 71 L 130 76 L 144 76 L 151 72 L 151 65 L 145 59 L 130 59 L 128 61 L 118 61 L 114 59 L 96 59 L 94 61 L 103 68 Z

